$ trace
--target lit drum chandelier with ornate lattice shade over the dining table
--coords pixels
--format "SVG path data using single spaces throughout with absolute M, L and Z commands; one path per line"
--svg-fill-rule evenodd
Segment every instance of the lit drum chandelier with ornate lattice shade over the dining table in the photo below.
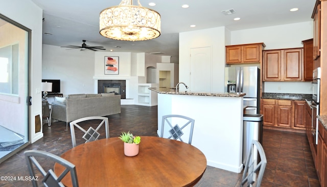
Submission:
M 118 6 L 100 13 L 100 34 L 115 40 L 141 41 L 160 36 L 160 14 L 152 9 L 122 0 Z

